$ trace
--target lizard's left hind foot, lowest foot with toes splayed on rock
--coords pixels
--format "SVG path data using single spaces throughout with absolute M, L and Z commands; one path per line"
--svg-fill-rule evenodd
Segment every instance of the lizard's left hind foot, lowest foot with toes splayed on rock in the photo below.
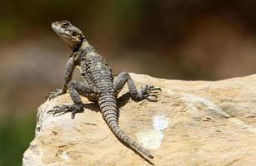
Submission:
M 83 105 L 73 104 L 73 105 L 62 105 L 55 106 L 53 110 L 49 110 L 48 114 L 53 114 L 53 116 L 63 115 L 71 112 L 71 119 L 74 119 L 75 115 L 79 112 L 83 112 Z

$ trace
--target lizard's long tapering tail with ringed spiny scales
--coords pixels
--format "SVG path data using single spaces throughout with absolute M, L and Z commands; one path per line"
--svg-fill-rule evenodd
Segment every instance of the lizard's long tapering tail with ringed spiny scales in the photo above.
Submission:
M 141 145 L 133 141 L 128 134 L 124 133 L 118 125 L 118 108 L 117 100 L 114 95 L 100 95 L 98 99 L 98 105 L 102 110 L 103 119 L 107 122 L 109 128 L 113 131 L 119 139 L 123 140 L 125 144 L 136 149 L 141 154 L 144 154 L 150 159 L 153 159 L 153 155 L 149 154 L 147 149 L 144 149 Z

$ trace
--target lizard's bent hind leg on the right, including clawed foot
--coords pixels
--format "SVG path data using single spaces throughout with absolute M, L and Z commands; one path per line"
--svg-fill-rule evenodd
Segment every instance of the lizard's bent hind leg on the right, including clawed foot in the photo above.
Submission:
M 140 90 L 137 90 L 133 79 L 127 72 L 120 73 L 113 82 L 113 88 L 116 92 L 116 95 L 118 95 L 118 93 L 123 89 L 123 85 L 125 85 L 126 82 L 128 83 L 128 90 L 133 99 L 148 99 L 151 101 L 157 101 L 158 96 L 156 95 L 156 93 L 157 90 L 161 90 L 161 88 L 145 85 Z M 155 99 L 151 99 L 150 96 L 153 96 Z

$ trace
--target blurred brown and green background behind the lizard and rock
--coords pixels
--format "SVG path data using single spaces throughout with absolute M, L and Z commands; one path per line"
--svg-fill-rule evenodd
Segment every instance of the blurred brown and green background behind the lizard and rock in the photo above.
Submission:
M 38 106 L 62 85 L 71 51 L 52 22 L 80 27 L 114 73 L 214 81 L 256 71 L 253 0 L 13 0 L 0 7 L 0 165 L 22 164 Z

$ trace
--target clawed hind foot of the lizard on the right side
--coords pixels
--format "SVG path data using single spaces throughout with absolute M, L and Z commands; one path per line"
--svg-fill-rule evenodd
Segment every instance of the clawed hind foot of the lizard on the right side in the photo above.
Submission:
M 153 85 L 145 85 L 138 91 L 138 98 L 147 99 L 150 101 L 158 101 L 158 90 L 162 91 L 161 88 L 154 87 Z

